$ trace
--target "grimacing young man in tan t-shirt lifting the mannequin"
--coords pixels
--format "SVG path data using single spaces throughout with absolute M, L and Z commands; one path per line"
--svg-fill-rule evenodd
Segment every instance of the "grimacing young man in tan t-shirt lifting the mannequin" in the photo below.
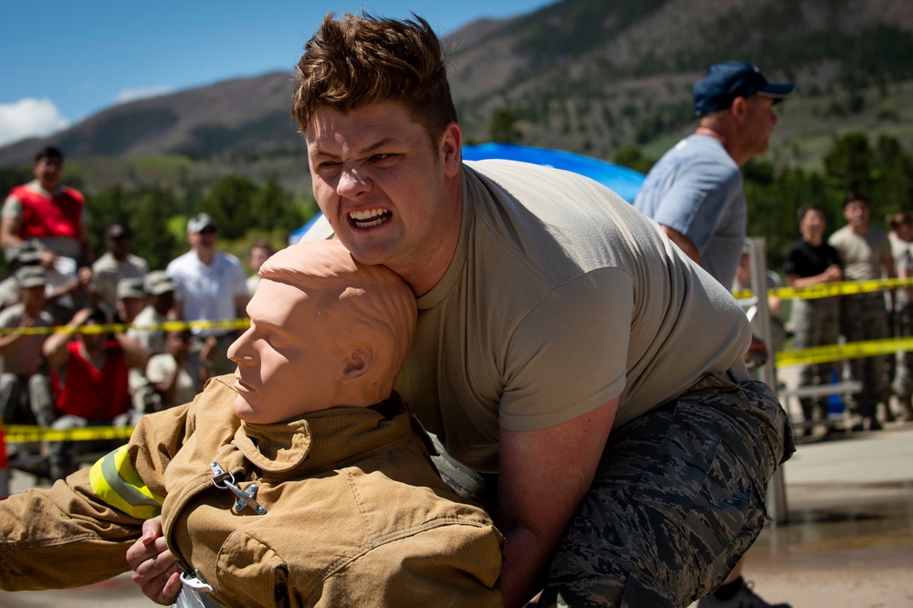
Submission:
M 711 591 L 760 531 L 792 449 L 782 407 L 745 372 L 738 304 L 599 184 L 463 163 L 420 18 L 328 16 L 305 48 L 293 114 L 325 232 L 419 297 L 397 389 L 497 486 L 506 605 L 543 584 L 548 605 Z M 134 579 L 168 600 L 146 541 L 128 555 Z

